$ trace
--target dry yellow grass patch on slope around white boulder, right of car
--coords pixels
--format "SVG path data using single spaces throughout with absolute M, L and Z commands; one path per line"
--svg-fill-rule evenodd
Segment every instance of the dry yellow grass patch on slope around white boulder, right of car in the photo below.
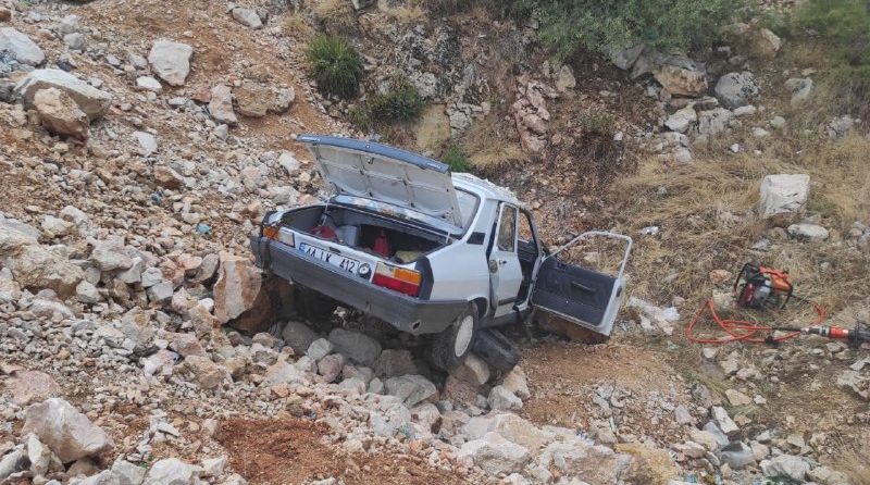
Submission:
M 774 135 L 779 136 L 779 135 Z M 659 236 L 641 236 L 632 257 L 632 293 L 659 298 L 680 295 L 698 303 L 712 290 L 713 269 L 738 269 L 749 260 L 783 268 L 796 278 L 799 293 L 831 310 L 861 298 L 870 284 L 868 262 L 836 241 L 856 220 L 870 212 L 870 171 L 866 153 L 870 140 L 850 135 L 841 140 L 817 139 L 816 145 L 787 154 L 790 140 L 766 142 L 765 154 L 751 148 L 738 156 L 717 147 L 691 165 L 668 169 L 650 160 L 635 175 L 618 183 L 625 204 L 620 220 L 632 234 L 658 225 Z M 761 144 L 759 144 L 761 146 Z M 769 223 L 753 210 L 765 175 L 808 173 L 812 181 L 808 213 L 821 217 L 832 238 L 811 245 L 773 239 L 776 250 L 758 253 L 749 248 L 771 237 Z M 799 318 L 800 315 L 791 315 Z

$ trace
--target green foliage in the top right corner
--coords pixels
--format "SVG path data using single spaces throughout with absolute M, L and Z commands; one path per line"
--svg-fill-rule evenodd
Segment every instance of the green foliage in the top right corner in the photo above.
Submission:
M 799 33 L 816 37 L 830 52 L 833 80 L 843 90 L 870 98 L 870 3 L 867 0 L 809 0 L 794 17 Z

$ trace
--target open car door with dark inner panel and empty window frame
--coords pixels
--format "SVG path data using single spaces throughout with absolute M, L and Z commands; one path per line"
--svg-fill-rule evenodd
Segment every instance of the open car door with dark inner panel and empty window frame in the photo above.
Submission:
M 625 242 L 618 274 L 599 273 L 568 264 L 560 259 L 567 249 L 591 237 L 606 237 Z M 532 303 L 536 309 L 557 319 L 609 336 L 622 303 L 623 275 L 631 250 L 632 238 L 629 236 L 600 231 L 581 234 L 540 262 Z

